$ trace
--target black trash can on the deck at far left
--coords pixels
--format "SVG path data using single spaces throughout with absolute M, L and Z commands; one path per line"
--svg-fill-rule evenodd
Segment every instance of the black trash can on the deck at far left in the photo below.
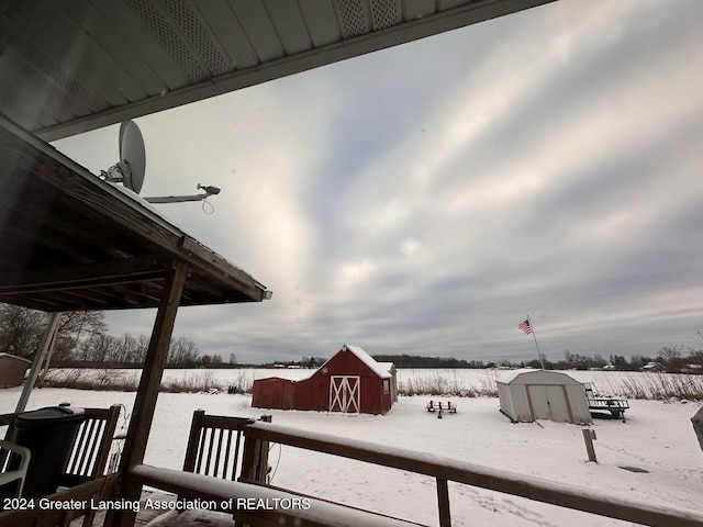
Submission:
M 82 408 L 67 405 L 48 406 L 16 416 L 9 436 L 13 442 L 27 447 L 32 452 L 23 496 L 40 497 L 56 492 L 85 418 Z

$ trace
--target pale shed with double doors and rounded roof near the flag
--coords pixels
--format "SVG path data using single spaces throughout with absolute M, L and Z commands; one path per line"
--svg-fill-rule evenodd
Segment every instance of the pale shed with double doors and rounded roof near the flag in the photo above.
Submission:
M 592 423 L 583 384 L 563 372 L 518 371 L 496 384 L 501 412 L 513 421 Z

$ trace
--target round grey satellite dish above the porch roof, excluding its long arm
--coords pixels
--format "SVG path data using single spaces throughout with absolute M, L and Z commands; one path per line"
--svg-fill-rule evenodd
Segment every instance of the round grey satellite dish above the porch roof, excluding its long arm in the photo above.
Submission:
M 120 125 L 120 160 L 100 176 L 112 183 L 122 183 L 136 192 L 142 190 L 146 173 L 146 149 L 142 132 L 134 121 Z

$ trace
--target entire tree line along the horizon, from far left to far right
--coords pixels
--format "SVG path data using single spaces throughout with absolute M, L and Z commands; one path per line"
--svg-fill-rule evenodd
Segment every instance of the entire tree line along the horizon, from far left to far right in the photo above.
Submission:
M 36 355 L 46 330 L 49 315 L 16 305 L 0 304 L 0 352 L 7 352 L 32 360 Z M 699 332 L 703 339 L 703 334 Z M 100 367 L 141 368 L 149 345 L 147 335 L 134 337 L 130 334 L 115 336 L 108 334 L 104 313 L 101 311 L 67 312 L 59 318 L 53 344 L 52 366 L 54 367 Z M 423 357 L 414 355 L 375 355 L 379 362 L 393 362 L 395 368 L 542 368 L 548 370 L 613 369 L 638 371 L 654 365 L 655 371 L 670 373 L 703 373 L 703 351 L 683 346 L 669 345 L 659 348 L 655 357 L 600 354 L 584 356 L 563 351 L 563 358 L 549 360 L 545 354 L 538 358 L 522 361 L 465 360 L 446 357 Z M 303 357 L 299 361 L 282 361 L 270 366 L 299 366 L 315 368 L 325 359 Z M 170 341 L 167 368 L 232 368 L 237 366 L 234 354 L 225 362 L 221 355 L 202 355 L 198 345 L 186 337 Z

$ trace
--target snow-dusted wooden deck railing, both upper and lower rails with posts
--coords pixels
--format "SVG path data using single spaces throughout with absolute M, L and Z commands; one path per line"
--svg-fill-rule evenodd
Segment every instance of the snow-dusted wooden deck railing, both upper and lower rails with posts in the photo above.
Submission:
M 241 424 L 237 423 L 237 428 Z M 381 467 L 425 474 L 436 480 L 439 525 L 451 525 L 448 482 L 478 486 L 490 491 L 521 496 L 528 500 L 549 503 L 560 507 L 583 511 L 600 516 L 633 522 L 652 527 L 701 527 L 703 515 L 695 512 L 681 512 L 668 507 L 655 506 L 632 500 L 613 497 L 543 479 L 493 470 L 477 464 L 457 461 L 433 453 L 415 452 L 401 448 L 375 445 L 366 441 L 349 440 L 310 430 L 300 430 L 277 424 L 256 422 L 244 425 L 245 451 L 255 452 L 267 442 L 278 442 L 316 452 L 355 459 Z M 248 444 L 248 445 L 247 445 Z M 258 447 L 257 447 L 258 446 Z M 246 456 L 245 456 L 246 458 Z M 141 487 L 148 484 L 191 498 L 215 498 L 220 501 L 236 498 L 288 498 L 301 496 L 297 491 L 261 486 L 248 474 L 260 474 L 265 467 L 256 467 L 256 456 L 245 459 L 238 481 L 226 481 L 209 475 L 183 473 L 169 469 L 137 466 L 130 470 L 131 484 Z M 48 496 L 49 500 L 120 500 L 115 495 L 122 474 L 100 478 L 62 493 Z M 227 478 L 228 479 L 228 478 Z M 316 496 L 304 496 L 310 507 L 298 511 L 246 509 L 233 506 L 231 509 L 238 525 L 275 526 L 280 520 L 294 520 L 294 525 L 304 527 L 358 526 L 358 525 L 417 525 L 400 518 L 391 518 L 379 513 L 333 503 Z M 216 507 L 230 508 L 230 507 Z M 14 511 L 0 513 L 0 525 L 13 527 L 24 525 L 57 526 L 67 525 L 74 518 L 90 511 Z M 87 516 L 87 520 L 89 517 Z M 89 525 L 89 524 L 86 524 Z

